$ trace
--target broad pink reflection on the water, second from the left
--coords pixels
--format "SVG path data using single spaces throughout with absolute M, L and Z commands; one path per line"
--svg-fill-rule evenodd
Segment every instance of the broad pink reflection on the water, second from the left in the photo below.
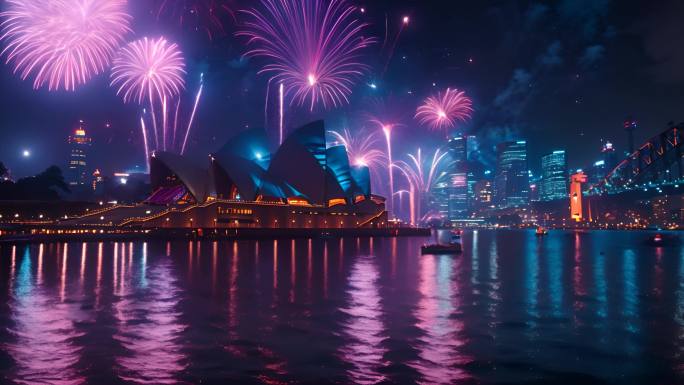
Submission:
M 116 357 L 117 374 L 134 383 L 172 384 L 187 365 L 180 342 L 187 327 L 178 310 L 181 290 L 169 260 L 157 259 L 148 270 L 147 287 L 133 292 L 127 289 L 132 285 L 122 285 L 114 304 L 114 339 L 125 352 Z

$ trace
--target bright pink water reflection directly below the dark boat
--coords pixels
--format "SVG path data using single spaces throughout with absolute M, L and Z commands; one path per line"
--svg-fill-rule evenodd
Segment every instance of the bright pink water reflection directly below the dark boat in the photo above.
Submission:
M 461 261 L 460 259 L 458 261 Z M 411 364 L 423 381 L 451 384 L 469 377 L 463 365 L 470 359 L 461 350 L 463 321 L 460 287 L 453 279 L 460 268 L 451 256 L 424 256 L 420 260 L 420 300 L 414 311 L 421 337 L 416 343 L 419 360 Z

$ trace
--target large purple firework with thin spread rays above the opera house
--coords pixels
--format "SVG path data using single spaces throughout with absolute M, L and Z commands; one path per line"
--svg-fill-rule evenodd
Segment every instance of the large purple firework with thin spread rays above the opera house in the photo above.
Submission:
M 245 54 L 270 61 L 260 73 L 282 82 L 292 102 L 313 110 L 349 103 L 356 81 L 368 70 L 360 59 L 375 40 L 345 0 L 262 0 L 263 9 L 243 11 L 252 48 Z

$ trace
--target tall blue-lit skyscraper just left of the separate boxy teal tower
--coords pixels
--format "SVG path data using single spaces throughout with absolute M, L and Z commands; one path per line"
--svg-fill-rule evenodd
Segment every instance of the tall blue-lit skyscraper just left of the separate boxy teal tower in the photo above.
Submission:
M 499 207 L 520 207 L 529 202 L 527 142 L 503 142 L 496 146 L 495 202 Z

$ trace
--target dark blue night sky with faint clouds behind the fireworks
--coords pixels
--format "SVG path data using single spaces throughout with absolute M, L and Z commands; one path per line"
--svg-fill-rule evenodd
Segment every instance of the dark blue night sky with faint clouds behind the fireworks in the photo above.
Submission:
M 131 1 L 134 33 L 128 39 L 164 35 L 178 42 L 188 65 L 186 104 L 197 89 L 199 73 L 205 73 L 205 94 L 188 148 L 191 157 L 205 162 L 230 136 L 264 125 L 267 77 L 257 74 L 263 62 L 242 58 L 245 41 L 234 36 L 238 27 L 231 17 L 224 20 L 225 33 L 210 40 L 170 18 L 157 19 L 150 12 L 152 2 Z M 235 2 L 234 7 L 250 4 Z M 286 112 L 289 126 L 325 118 L 329 129 L 354 129 L 382 108 L 404 124 L 397 131 L 395 154 L 402 158 L 418 145 L 432 149 L 443 138 L 420 127 L 413 113 L 425 96 L 455 87 L 466 91 L 475 108 L 472 121 L 459 130 L 486 139 L 483 150 L 503 139 L 527 139 L 530 168 L 536 171 L 539 157 L 556 149 L 568 151 L 572 168 L 596 160 L 602 139 L 624 151 L 622 121 L 629 115 L 639 121 L 638 143 L 669 121 L 684 120 L 681 1 L 357 4 L 365 7 L 360 17 L 372 24 L 369 32 L 380 42 L 386 20 L 390 40 L 404 15 L 410 16 L 410 25 L 391 57 L 380 44 L 368 50 L 364 61 L 371 71 L 359 81 L 349 106 L 315 113 L 292 107 Z M 75 92 L 35 91 L 31 81 L 21 81 L 10 66 L 2 65 L 0 161 L 15 176 L 50 164 L 63 167 L 66 137 L 83 119 L 94 138 L 92 166 L 114 172 L 144 165 L 139 108 L 123 104 L 108 86 L 108 75 Z M 376 89 L 369 87 L 372 83 Z M 22 157 L 24 149 L 31 150 L 30 158 Z M 487 152 L 485 162 L 491 161 Z

